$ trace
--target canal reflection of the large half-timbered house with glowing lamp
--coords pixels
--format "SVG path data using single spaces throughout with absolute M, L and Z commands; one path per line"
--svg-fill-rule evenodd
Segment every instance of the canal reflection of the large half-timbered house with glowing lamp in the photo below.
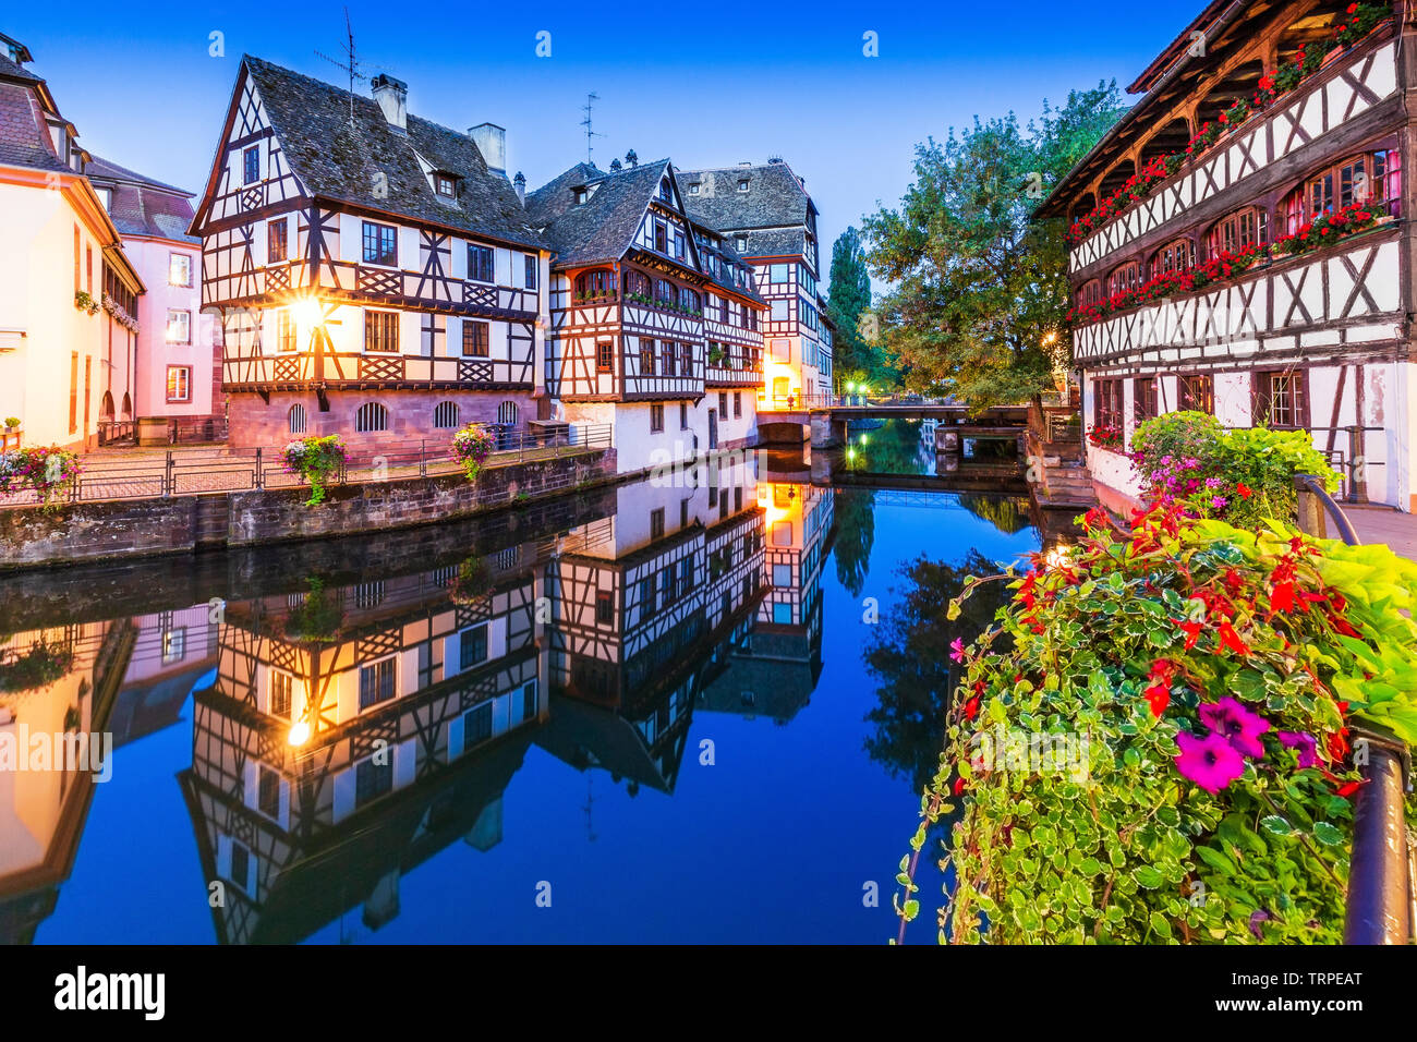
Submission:
M 359 903 L 377 929 L 404 872 L 500 839 L 548 712 L 541 566 L 526 543 L 225 607 L 181 775 L 218 940 L 293 943 Z

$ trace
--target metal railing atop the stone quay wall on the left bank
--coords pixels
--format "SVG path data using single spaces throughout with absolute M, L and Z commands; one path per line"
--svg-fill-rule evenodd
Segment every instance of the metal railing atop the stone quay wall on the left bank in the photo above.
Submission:
M 485 466 L 507 466 L 536 459 L 554 459 L 592 449 L 611 448 L 609 424 L 548 425 L 544 430 L 497 431 L 496 448 Z M 140 451 L 139 451 L 140 452 Z M 251 492 L 303 485 L 286 471 L 281 448 L 150 452 L 133 458 L 81 459 L 82 469 L 57 496 L 60 502 L 84 503 L 113 499 L 163 499 L 204 492 Z M 351 448 L 330 483 L 356 485 L 461 474 L 446 441 L 405 439 Z M 26 489 L 0 496 L 0 508 L 33 506 L 37 492 Z

